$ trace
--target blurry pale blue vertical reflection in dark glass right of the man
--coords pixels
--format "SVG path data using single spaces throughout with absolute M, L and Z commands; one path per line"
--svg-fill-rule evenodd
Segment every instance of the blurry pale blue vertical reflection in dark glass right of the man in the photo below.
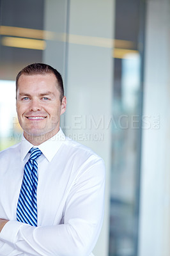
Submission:
M 128 57 L 128 58 L 127 58 Z M 113 134 L 111 180 L 111 255 L 134 255 L 134 204 L 139 54 L 122 60 L 121 94 L 114 98 L 116 127 Z M 119 93 L 117 92 L 116 95 Z M 115 108 L 116 106 L 116 108 Z

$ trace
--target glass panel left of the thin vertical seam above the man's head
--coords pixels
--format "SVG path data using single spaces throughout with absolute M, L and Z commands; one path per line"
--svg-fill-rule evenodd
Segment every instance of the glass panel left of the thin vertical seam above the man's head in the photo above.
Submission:
M 0 10 L 0 150 L 3 150 L 20 141 L 22 133 L 15 111 L 14 81 L 18 72 L 30 63 L 45 62 L 63 75 L 67 0 L 1 0 Z

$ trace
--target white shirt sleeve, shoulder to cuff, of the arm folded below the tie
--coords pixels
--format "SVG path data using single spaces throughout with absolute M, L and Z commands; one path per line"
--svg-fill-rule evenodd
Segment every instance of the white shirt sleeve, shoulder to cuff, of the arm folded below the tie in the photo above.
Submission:
M 104 187 L 105 167 L 99 159 L 77 177 L 66 200 L 64 224 L 31 227 L 8 221 L 0 233 L 0 241 L 26 255 L 90 255 L 102 227 Z

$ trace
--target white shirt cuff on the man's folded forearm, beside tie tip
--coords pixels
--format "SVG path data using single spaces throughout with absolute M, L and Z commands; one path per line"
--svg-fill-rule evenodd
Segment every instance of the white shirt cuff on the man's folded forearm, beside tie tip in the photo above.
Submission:
M 19 221 L 8 221 L 0 232 L 0 240 L 15 246 L 20 227 L 27 225 Z

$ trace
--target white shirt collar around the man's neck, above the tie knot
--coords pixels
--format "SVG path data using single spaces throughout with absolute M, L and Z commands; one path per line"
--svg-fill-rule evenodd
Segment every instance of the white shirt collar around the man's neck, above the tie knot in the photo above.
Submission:
M 63 141 L 65 141 L 65 134 L 59 129 L 58 133 L 54 135 L 49 140 L 43 142 L 42 144 L 38 145 L 37 147 L 42 151 L 42 154 L 47 158 L 47 160 L 50 162 L 52 158 L 56 155 L 59 148 L 61 147 Z M 29 150 L 35 147 L 33 144 L 31 144 L 29 141 L 22 136 L 22 141 L 20 145 L 20 158 L 21 161 L 24 160 Z

